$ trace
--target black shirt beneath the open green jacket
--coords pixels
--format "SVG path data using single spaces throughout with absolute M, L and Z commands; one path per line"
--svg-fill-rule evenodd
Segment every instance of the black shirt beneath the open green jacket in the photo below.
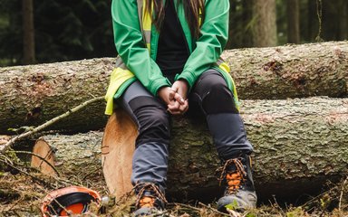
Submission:
M 183 70 L 188 58 L 189 50 L 175 10 L 174 0 L 167 0 L 156 62 L 163 75 L 173 82 L 175 75 Z

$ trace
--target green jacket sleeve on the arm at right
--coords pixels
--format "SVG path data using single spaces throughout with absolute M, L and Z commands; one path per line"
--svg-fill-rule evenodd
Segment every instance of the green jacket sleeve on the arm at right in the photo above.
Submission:
M 206 0 L 201 35 L 178 80 L 187 80 L 192 87 L 199 75 L 218 61 L 228 39 L 228 16 L 228 0 Z

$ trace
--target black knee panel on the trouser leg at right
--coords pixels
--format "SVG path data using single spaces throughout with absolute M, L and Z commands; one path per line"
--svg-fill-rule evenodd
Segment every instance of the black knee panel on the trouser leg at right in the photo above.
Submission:
M 207 71 L 198 79 L 194 89 L 202 100 L 202 109 L 207 114 L 238 113 L 231 90 L 218 71 Z

